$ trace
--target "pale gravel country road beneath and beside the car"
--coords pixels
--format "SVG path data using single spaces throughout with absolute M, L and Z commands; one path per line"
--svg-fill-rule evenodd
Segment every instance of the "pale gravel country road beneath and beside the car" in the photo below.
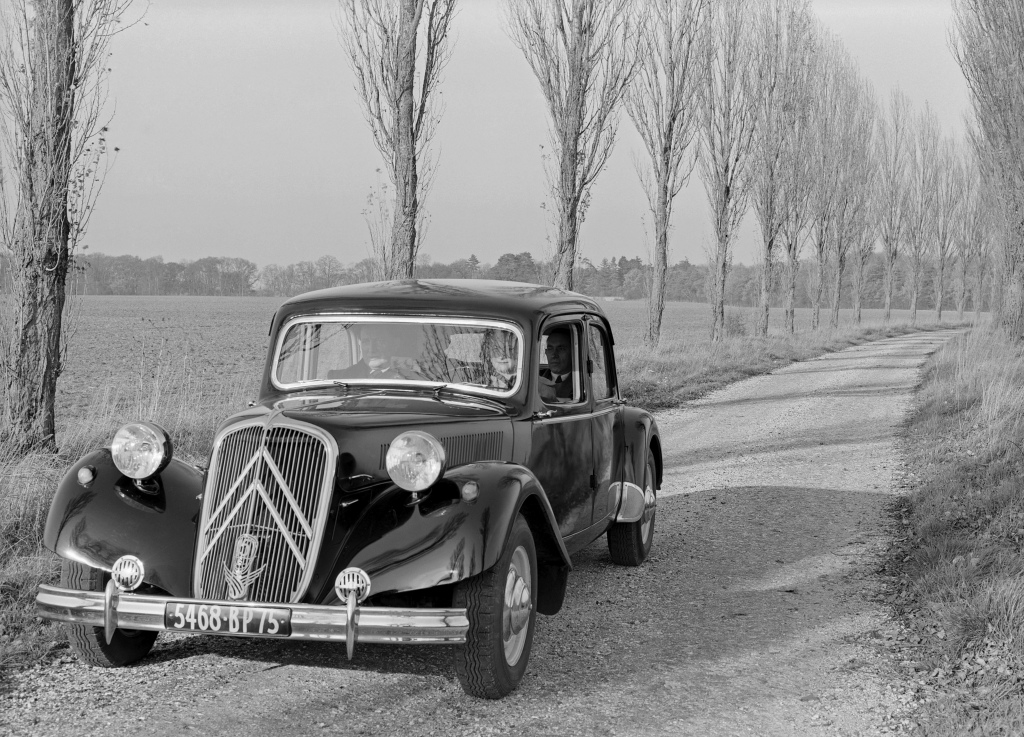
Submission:
M 894 442 L 951 333 L 796 363 L 658 416 L 654 551 L 575 560 L 512 696 L 465 696 L 449 648 L 179 637 L 137 666 L 70 655 L 16 675 L 0 731 L 31 735 L 873 735 L 912 691 L 876 570 Z

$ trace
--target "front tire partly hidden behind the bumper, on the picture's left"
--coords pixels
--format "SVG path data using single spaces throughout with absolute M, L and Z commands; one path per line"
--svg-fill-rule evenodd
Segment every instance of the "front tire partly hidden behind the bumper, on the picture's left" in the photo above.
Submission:
M 65 560 L 60 563 L 60 586 L 79 591 L 103 591 L 111 574 L 82 563 Z M 115 630 L 114 639 L 106 642 L 101 626 L 66 624 L 68 643 L 78 659 L 99 667 L 120 667 L 141 660 L 153 644 L 157 633 L 145 630 Z

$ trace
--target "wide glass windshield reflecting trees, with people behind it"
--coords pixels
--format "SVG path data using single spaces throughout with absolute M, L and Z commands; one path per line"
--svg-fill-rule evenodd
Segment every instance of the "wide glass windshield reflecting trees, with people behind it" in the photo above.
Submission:
M 300 317 L 282 331 L 282 389 L 344 384 L 450 384 L 508 396 L 522 376 L 513 326 L 443 318 Z

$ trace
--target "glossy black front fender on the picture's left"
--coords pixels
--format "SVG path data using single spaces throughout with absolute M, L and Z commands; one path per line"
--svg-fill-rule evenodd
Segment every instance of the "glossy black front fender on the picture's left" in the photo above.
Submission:
M 83 486 L 78 472 L 86 466 L 95 478 Z M 190 596 L 203 472 L 171 459 L 154 481 L 155 492 L 140 491 L 108 448 L 85 456 L 57 486 L 43 545 L 61 558 L 105 570 L 123 555 L 137 556 L 145 563 L 146 583 Z

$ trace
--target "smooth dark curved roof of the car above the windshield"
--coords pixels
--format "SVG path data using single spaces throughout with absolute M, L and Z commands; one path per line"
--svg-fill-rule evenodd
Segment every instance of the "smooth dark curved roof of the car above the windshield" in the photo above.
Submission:
M 295 314 L 330 312 L 498 317 L 523 324 L 548 314 L 604 314 L 600 305 L 586 295 L 544 285 L 497 279 L 404 279 L 307 292 L 288 300 L 279 310 L 278 320 L 280 323 Z

